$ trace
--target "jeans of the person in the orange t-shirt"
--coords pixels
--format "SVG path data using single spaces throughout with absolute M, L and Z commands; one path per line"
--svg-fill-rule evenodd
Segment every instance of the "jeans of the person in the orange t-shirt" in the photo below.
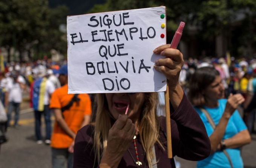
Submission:
M 64 167 L 73 168 L 73 153 L 69 153 L 68 148 L 52 148 L 52 168 Z

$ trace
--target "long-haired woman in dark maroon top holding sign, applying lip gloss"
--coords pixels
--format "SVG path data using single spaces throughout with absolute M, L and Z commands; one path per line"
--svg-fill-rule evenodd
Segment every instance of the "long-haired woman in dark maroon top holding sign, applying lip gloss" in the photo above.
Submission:
M 202 160 L 211 146 L 204 124 L 179 85 L 182 53 L 170 44 L 153 52 L 163 56 L 155 69 L 169 80 L 173 156 Z M 74 168 L 175 167 L 167 158 L 166 119 L 156 115 L 157 93 L 98 94 L 97 101 L 95 123 L 77 133 Z

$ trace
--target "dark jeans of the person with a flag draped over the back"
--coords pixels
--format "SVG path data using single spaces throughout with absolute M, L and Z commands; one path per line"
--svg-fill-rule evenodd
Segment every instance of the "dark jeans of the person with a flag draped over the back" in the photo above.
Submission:
M 41 115 L 44 115 L 44 122 L 46 126 L 46 139 L 51 139 L 51 110 L 49 105 L 44 105 L 43 111 L 34 111 L 35 115 L 35 135 L 37 140 L 42 140 L 41 136 Z

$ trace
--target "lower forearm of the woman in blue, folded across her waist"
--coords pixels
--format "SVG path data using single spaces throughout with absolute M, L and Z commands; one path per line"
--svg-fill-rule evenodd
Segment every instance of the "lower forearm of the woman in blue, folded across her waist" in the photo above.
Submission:
M 235 136 L 225 139 L 226 148 L 239 148 L 251 142 L 251 136 L 248 130 L 242 130 Z

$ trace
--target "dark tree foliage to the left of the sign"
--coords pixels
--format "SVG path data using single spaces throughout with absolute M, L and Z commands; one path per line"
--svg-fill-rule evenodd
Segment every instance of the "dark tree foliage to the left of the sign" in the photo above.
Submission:
M 48 0 L 2 0 L 0 46 L 7 50 L 15 48 L 20 61 L 24 53 L 32 59 L 32 49 L 35 56 L 47 54 L 52 48 L 64 51 L 66 42 L 61 39 L 59 26 L 66 23 L 66 13 L 64 6 L 49 8 Z

